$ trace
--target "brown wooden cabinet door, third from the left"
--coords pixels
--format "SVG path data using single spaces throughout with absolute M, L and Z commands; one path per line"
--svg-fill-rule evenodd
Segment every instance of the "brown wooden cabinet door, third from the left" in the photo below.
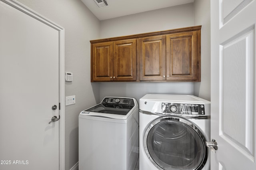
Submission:
M 165 80 L 166 36 L 139 39 L 140 80 Z

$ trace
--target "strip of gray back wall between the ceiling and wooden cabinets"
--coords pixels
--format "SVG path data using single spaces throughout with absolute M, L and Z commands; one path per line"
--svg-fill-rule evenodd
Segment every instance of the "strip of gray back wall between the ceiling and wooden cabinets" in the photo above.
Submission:
M 194 26 L 193 3 L 122 16 L 100 22 L 100 38 Z

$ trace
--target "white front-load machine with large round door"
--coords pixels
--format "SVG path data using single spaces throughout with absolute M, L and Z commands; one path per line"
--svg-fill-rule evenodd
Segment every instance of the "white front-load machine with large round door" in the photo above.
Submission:
M 210 170 L 210 102 L 193 95 L 140 99 L 140 170 Z

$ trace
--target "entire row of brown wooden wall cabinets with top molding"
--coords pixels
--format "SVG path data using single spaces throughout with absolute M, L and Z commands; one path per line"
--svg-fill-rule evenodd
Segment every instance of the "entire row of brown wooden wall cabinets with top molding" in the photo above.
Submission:
M 201 81 L 201 26 L 91 40 L 91 81 Z

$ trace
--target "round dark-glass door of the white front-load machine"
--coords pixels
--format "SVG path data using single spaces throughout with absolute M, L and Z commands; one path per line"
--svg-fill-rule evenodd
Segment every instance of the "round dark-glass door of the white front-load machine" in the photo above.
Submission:
M 205 137 L 183 117 L 162 116 L 145 130 L 144 149 L 160 170 L 200 170 L 207 159 Z

